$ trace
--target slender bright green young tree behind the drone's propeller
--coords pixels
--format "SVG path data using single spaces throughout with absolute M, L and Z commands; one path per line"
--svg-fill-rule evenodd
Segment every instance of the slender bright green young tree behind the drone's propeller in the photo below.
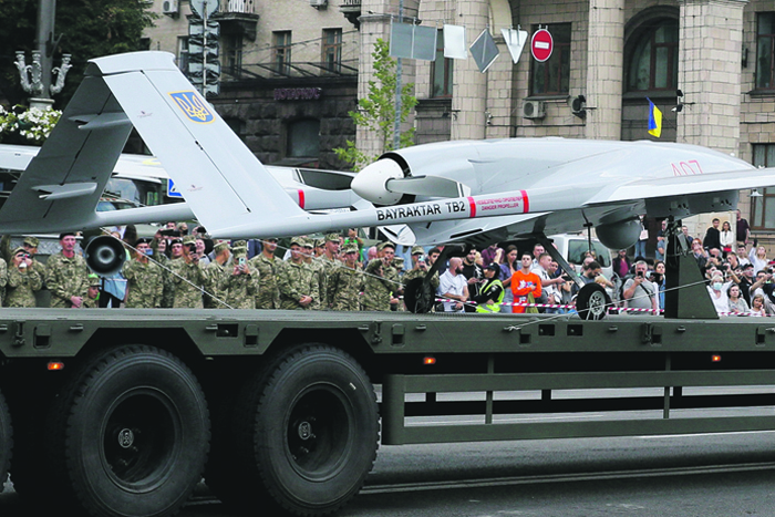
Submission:
M 379 39 L 374 45 L 374 76 L 376 81 L 369 81 L 369 95 L 358 101 L 358 111 L 349 112 L 350 117 L 358 127 L 364 127 L 376 132 L 382 148 L 393 151 L 393 135 L 395 125 L 395 85 L 396 60 L 390 56 L 386 41 Z M 401 122 L 406 122 L 410 113 L 417 105 L 417 99 L 412 95 L 414 84 L 404 84 L 401 87 Z M 399 148 L 413 145 L 414 127 L 404 131 L 400 135 Z M 352 164 L 354 170 L 360 170 L 374 162 L 379 156 L 369 156 L 355 147 L 355 143 L 347 141 L 347 147 L 333 149 L 337 157 Z

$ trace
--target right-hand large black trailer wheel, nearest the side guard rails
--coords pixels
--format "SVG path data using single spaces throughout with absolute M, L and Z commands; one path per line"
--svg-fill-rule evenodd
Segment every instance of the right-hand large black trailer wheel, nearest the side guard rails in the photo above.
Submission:
M 374 389 L 337 348 L 304 345 L 278 358 L 247 383 L 236 414 L 236 444 L 251 458 L 247 478 L 277 510 L 331 514 L 361 489 L 374 464 Z

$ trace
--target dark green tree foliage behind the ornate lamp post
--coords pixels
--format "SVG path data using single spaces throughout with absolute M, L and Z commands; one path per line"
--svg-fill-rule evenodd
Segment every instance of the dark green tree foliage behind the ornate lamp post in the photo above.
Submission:
M 56 2 L 53 66 L 62 54 L 72 54 L 72 69 L 65 87 L 54 96 L 63 107 L 81 83 L 86 61 L 101 55 L 145 50 L 143 30 L 153 25 L 156 17 L 145 0 L 60 0 Z M 27 63 L 35 44 L 38 0 L 0 0 L 0 99 L 10 105 L 27 102 L 29 94 L 19 82 L 16 51 L 24 51 Z M 53 77 L 52 77 L 53 82 Z

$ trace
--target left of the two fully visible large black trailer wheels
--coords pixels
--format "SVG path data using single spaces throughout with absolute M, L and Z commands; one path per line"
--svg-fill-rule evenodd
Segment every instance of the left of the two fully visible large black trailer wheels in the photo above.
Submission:
M 202 480 L 209 416 L 179 359 L 152 347 L 115 348 L 61 393 L 48 426 L 59 495 L 101 517 L 169 516 L 183 506 Z

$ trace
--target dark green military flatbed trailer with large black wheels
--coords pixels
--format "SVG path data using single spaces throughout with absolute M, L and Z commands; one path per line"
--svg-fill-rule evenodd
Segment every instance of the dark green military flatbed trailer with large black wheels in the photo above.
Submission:
M 775 430 L 768 318 L 3 309 L 0 359 L 0 479 L 93 516 L 172 515 L 203 476 L 332 514 L 380 443 Z

